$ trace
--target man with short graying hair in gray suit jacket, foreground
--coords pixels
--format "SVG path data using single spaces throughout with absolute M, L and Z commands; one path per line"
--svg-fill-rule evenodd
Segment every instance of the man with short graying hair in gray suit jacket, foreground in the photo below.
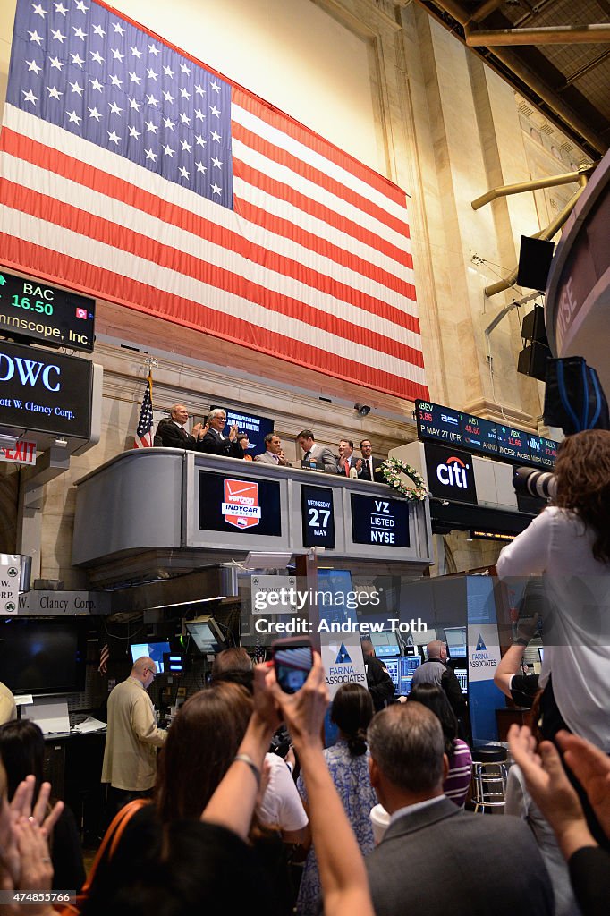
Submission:
M 376 916 L 551 916 L 549 876 L 526 824 L 463 812 L 442 794 L 448 764 L 429 709 L 389 706 L 368 743 L 371 783 L 391 815 L 365 859 Z

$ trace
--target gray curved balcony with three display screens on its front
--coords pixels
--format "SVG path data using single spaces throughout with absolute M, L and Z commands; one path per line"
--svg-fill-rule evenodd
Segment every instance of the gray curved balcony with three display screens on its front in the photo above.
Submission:
M 428 500 L 383 484 L 155 448 L 117 455 L 77 487 L 72 562 L 99 585 L 314 546 L 324 565 L 371 572 L 418 575 L 432 562 Z

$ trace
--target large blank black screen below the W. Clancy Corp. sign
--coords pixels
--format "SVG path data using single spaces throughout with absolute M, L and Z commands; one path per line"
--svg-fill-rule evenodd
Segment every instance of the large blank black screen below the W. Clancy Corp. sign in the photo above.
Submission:
M 84 690 L 86 638 L 78 623 L 39 617 L 0 619 L 0 679 L 35 696 Z

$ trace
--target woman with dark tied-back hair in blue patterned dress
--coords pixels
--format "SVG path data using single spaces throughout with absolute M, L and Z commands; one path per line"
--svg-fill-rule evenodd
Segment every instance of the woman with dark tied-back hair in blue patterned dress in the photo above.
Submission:
M 366 729 L 373 714 L 371 694 L 359 684 L 343 684 L 331 706 L 331 719 L 339 729 L 339 740 L 324 751 L 332 782 L 364 855 L 375 845 L 369 814 L 377 799 L 368 778 L 366 747 Z M 308 796 L 302 777 L 297 787 L 307 807 Z M 320 874 L 314 848 L 310 849 L 305 863 L 297 912 L 299 916 L 317 916 L 321 912 Z

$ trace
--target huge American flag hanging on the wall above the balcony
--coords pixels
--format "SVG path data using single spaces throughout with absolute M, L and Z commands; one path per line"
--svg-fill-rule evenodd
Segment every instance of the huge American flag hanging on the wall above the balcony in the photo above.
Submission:
M 6 266 L 429 397 L 404 191 L 103 4 L 17 2 L 0 230 Z

